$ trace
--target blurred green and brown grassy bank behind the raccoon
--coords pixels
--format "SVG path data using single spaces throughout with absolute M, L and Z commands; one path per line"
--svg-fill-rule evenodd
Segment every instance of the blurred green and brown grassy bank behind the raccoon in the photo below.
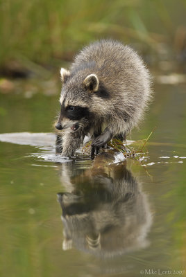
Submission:
M 185 15 L 185 0 L 1 1 L 1 75 L 38 73 L 38 64 L 57 68 L 85 44 L 108 37 L 132 44 L 150 65 L 184 64 Z

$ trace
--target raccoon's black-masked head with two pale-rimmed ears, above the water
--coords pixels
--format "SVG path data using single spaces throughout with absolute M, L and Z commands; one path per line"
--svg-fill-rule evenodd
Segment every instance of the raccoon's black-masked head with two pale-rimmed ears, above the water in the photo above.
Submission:
M 96 74 L 71 76 L 66 69 L 60 70 L 62 92 L 60 95 L 60 116 L 56 129 L 70 128 L 76 132 L 80 127 L 87 127 L 90 122 L 91 94 L 99 89 L 99 79 Z

